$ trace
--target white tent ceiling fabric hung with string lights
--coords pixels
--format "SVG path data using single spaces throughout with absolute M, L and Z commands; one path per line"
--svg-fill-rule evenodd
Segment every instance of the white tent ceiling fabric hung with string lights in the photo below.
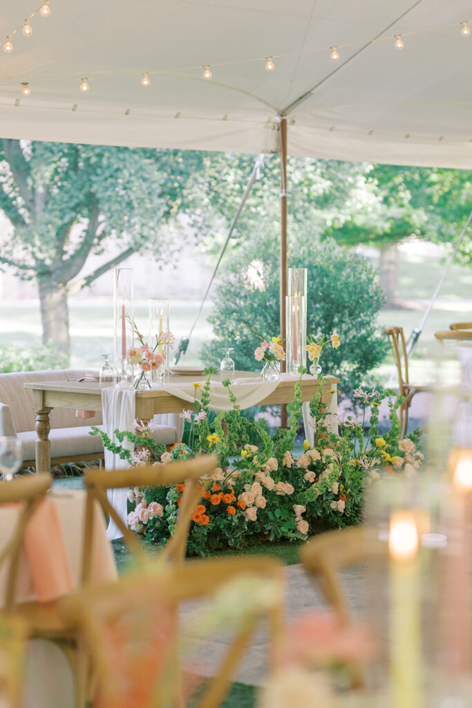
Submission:
M 0 36 L 39 4 L 4 3 Z M 472 19 L 468 0 L 50 0 L 50 7 L 49 18 L 33 17 L 31 38 L 20 30 L 11 55 L 0 53 L 1 137 L 273 152 L 278 115 L 286 115 L 292 155 L 472 168 L 472 36 L 444 27 Z M 397 33 L 416 34 L 403 37 L 401 51 L 393 40 L 367 43 Z M 350 42 L 357 44 L 341 46 Z M 316 51 L 330 45 L 340 47 L 339 62 Z M 266 72 L 263 57 L 277 55 L 288 56 Z M 149 72 L 149 88 L 141 72 Z

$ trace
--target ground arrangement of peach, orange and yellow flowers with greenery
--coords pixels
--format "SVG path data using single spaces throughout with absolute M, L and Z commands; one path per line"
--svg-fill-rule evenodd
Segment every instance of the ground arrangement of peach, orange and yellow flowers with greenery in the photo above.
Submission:
M 183 411 L 188 442 L 170 450 L 152 438 L 152 421 L 135 421 L 134 430 L 115 431 L 113 443 L 103 430 L 103 446 L 131 465 L 168 464 L 201 453 L 214 452 L 219 460 L 211 479 L 202 479 L 202 500 L 190 525 L 188 553 L 206 555 L 216 549 L 241 548 L 260 541 L 298 541 L 329 528 L 357 524 L 362 515 L 366 486 L 381 474 L 415 474 L 424 457 L 420 430 L 401 439 L 396 411 L 403 398 L 392 390 L 379 393 L 359 388 L 354 398 L 370 409 L 370 429 L 355 418 L 339 422 L 339 433 L 330 433 L 332 414 L 321 404 L 321 387 L 310 404 L 316 426 L 314 444 L 304 441 L 304 452 L 294 457 L 294 443 L 301 423 L 301 375 L 295 384 L 294 402 L 289 406 L 289 426 L 270 435 L 265 421 L 253 423 L 241 413 L 231 382 L 224 381 L 233 404 L 231 411 L 218 413 L 209 422 L 209 382 L 214 370 L 207 370 L 201 399 L 192 410 Z M 321 378 L 321 377 L 320 377 Z M 379 434 L 379 406 L 388 399 L 391 428 Z M 330 418 L 328 418 L 330 416 Z M 137 452 L 122 443 L 133 442 Z M 366 442 L 367 440 L 367 442 Z M 129 490 L 134 508 L 128 515 L 132 530 L 163 544 L 172 534 L 185 484 Z

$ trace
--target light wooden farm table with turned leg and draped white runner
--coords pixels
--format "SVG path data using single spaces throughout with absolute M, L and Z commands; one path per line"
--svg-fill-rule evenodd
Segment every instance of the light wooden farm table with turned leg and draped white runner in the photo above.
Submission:
M 236 371 L 234 378 L 254 377 L 259 378 L 258 372 Z M 172 384 L 185 385 L 191 381 L 205 381 L 205 376 L 171 376 L 169 387 Z M 325 376 L 322 381 L 321 401 L 329 406 L 331 413 L 337 412 L 336 387 L 340 379 L 335 376 Z M 292 403 L 294 399 L 294 385 L 296 377 L 281 379 L 277 388 L 270 396 L 259 401 L 258 406 L 269 406 L 275 404 Z M 36 411 L 36 432 L 38 439 L 35 444 L 36 451 L 36 472 L 50 472 L 50 411 L 53 408 L 84 409 L 86 411 L 102 410 L 102 389 L 113 384 L 100 384 L 95 381 L 38 381 L 26 382 L 23 384 L 26 389 L 33 390 L 33 406 Z M 159 413 L 180 413 L 189 407 L 188 401 L 173 396 L 166 391 L 168 384 L 162 389 L 152 389 L 150 391 L 136 392 L 136 417 L 142 421 L 149 421 L 154 415 Z M 234 392 L 237 391 L 237 384 L 234 385 Z M 301 382 L 302 401 L 311 401 L 318 391 L 319 382 L 315 377 L 304 377 Z

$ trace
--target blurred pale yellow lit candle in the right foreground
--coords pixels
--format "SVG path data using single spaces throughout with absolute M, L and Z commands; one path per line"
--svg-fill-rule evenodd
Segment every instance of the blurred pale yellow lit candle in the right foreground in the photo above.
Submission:
M 413 511 L 391 515 L 388 550 L 391 707 L 422 708 L 420 561 Z

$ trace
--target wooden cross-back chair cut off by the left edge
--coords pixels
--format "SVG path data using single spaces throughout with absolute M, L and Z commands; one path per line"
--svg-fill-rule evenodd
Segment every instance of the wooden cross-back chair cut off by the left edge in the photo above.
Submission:
M 16 611 L 16 582 L 23 537 L 28 521 L 50 486 L 49 474 L 28 475 L 0 483 L 0 506 L 21 505 L 16 527 L 0 554 L 0 565 L 8 566 L 4 609 L 0 611 L 0 699 L 8 708 L 21 705 L 25 643 L 33 630 Z

